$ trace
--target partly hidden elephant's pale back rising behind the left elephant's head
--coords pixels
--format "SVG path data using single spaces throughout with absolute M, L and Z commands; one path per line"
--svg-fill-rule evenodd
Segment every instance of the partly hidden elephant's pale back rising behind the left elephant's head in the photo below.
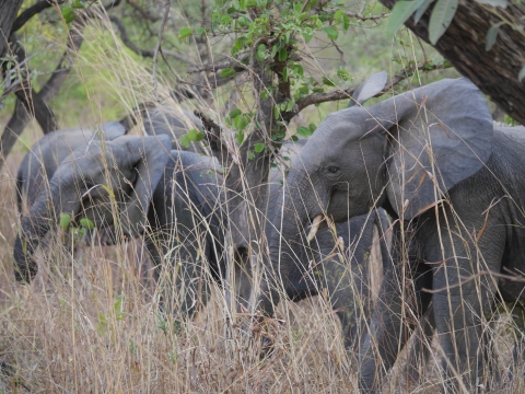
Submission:
M 58 165 L 72 151 L 86 148 L 95 140 L 112 141 L 126 134 L 126 129 L 117 121 L 109 121 L 93 129 L 65 129 L 52 131 L 42 137 L 25 154 L 16 173 L 16 204 L 22 213 L 23 199 L 31 209 L 37 196 L 47 187 Z

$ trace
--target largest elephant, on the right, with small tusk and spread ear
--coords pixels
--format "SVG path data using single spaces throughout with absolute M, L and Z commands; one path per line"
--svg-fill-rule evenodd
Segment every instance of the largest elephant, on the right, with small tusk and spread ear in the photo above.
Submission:
M 493 129 L 467 79 L 330 114 L 301 150 L 270 219 L 282 225 L 267 234 L 280 277 L 290 276 L 291 244 L 315 218 L 340 222 L 383 207 L 394 219 L 393 265 L 359 352 L 362 389 L 377 390 L 377 373 L 393 366 L 431 299 L 446 381 L 460 384 L 460 375 L 472 387 L 483 379 L 482 318 L 497 293 L 524 298 L 523 283 L 509 279 L 525 268 L 524 150 L 523 132 Z M 261 288 L 267 314 L 279 287 Z

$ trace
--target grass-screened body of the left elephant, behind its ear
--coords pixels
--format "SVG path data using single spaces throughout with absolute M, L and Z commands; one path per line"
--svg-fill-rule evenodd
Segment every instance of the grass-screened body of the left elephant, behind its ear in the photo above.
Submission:
M 164 302 L 182 318 L 205 305 L 210 280 L 221 281 L 225 275 L 226 218 L 219 174 L 214 160 L 172 150 L 148 212 L 145 242 L 156 279 L 162 267 L 167 269 L 163 278 L 170 282 L 161 283 Z

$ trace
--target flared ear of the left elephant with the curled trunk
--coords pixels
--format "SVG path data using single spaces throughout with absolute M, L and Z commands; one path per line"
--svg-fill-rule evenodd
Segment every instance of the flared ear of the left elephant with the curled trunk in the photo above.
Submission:
M 145 225 L 153 193 L 170 160 L 172 140 L 170 136 L 160 135 L 130 138 L 122 143 L 128 152 L 128 155 L 122 158 L 122 164 L 133 166 L 138 176 L 120 219 L 125 233 L 136 235 L 141 233 Z

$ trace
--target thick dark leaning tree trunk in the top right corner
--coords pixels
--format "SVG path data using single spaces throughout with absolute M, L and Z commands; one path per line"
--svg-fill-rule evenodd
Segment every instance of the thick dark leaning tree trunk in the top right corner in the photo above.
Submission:
M 397 0 L 381 2 L 392 9 Z M 433 5 L 418 24 L 413 23 L 413 18 L 405 22 L 407 27 L 425 42 L 429 42 L 432 10 Z M 491 26 L 504 19 L 516 27 L 523 25 L 522 18 L 525 18 L 523 7 L 511 4 L 510 1 L 509 7 L 503 10 L 476 1 L 460 0 L 454 20 L 435 44 L 435 49 L 506 114 L 525 124 L 525 79 L 522 82 L 517 79 L 525 66 L 523 32 L 502 24 L 495 44 L 490 50 L 486 50 L 487 32 Z

